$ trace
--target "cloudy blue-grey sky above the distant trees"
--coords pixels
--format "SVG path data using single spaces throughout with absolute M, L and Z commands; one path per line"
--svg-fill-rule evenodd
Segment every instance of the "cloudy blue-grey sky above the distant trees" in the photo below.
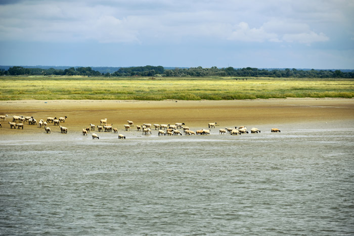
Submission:
M 353 0 L 0 0 L 0 65 L 354 69 Z

